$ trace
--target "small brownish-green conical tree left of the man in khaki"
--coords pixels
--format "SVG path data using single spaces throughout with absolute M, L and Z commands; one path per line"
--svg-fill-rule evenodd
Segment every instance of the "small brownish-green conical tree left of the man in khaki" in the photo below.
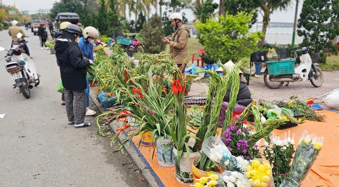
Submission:
M 145 51 L 149 53 L 160 53 L 164 51 L 166 43 L 164 43 L 160 37 L 163 34 L 164 30 L 162 28 L 161 17 L 157 14 L 152 15 L 140 31 L 140 36 L 144 40 Z

